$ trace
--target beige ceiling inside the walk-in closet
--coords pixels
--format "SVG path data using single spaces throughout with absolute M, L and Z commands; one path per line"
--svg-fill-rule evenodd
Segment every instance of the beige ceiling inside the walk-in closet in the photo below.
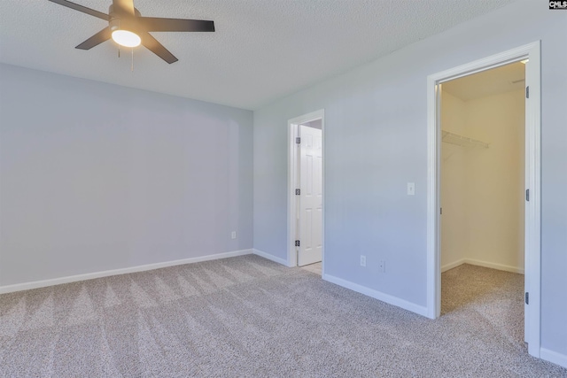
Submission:
M 525 88 L 525 66 L 517 62 L 443 83 L 443 90 L 463 101 Z

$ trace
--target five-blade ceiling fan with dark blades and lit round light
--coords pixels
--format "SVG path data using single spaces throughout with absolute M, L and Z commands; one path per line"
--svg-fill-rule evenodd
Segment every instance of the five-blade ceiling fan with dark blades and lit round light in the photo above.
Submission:
M 134 0 L 113 0 L 108 14 L 66 0 L 49 1 L 108 21 L 108 27 L 91 36 L 75 49 L 89 50 L 112 38 L 114 42 L 125 47 L 136 47 L 143 44 L 159 58 L 172 64 L 178 59 L 149 32 L 214 32 L 214 21 L 142 17 L 140 12 L 134 8 Z

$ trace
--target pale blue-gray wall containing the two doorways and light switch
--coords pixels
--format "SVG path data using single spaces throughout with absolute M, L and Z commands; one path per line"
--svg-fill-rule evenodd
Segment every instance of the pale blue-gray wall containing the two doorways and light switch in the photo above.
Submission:
M 537 40 L 541 341 L 567 355 L 567 12 L 548 2 L 511 4 L 254 112 L 254 248 L 286 258 L 287 120 L 324 108 L 326 274 L 425 306 L 427 75 Z

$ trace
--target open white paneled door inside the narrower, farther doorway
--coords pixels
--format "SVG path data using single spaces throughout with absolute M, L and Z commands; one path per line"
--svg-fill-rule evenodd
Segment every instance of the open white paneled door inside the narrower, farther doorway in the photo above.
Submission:
M 299 126 L 299 252 L 298 265 L 322 258 L 322 130 Z

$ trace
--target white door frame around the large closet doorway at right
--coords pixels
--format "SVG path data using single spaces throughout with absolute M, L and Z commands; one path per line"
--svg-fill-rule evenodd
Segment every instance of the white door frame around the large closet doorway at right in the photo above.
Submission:
M 427 77 L 427 316 L 435 319 L 441 312 L 438 85 L 526 58 L 530 59 L 525 69 L 525 84 L 530 87 L 530 98 L 525 106 L 525 189 L 530 189 L 530 201 L 525 204 L 524 279 L 530 293 L 530 304 L 527 306 L 529 313 L 526 314 L 529 316 L 526 341 L 528 352 L 534 357 L 540 357 L 540 41 Z

